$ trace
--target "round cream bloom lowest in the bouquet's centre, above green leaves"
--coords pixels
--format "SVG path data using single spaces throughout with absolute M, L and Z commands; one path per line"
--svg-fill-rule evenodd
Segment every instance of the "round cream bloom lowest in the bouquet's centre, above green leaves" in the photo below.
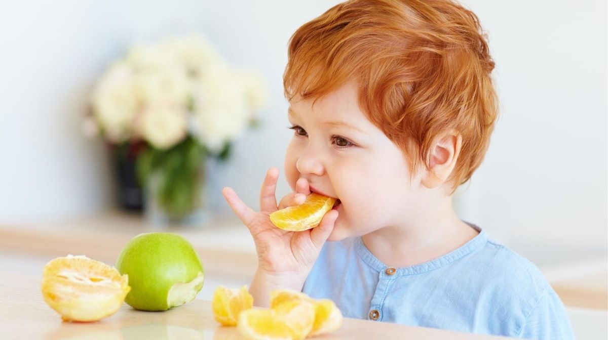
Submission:
M 168 149 L 186 136 L 187 112 L 169 102 L 148 103 L 138 122 L 140 135 L 157 149 Z

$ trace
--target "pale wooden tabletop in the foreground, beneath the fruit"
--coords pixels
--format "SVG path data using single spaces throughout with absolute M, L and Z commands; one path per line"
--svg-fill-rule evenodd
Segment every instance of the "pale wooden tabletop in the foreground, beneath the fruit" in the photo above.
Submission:
M 43 300 L 40 280 L 0 271 L 0 331 L 2 339 L 241 339 L 235 327 L 221 327 L 211 302 L 195 300 L 173 310 L 137 311 L 128 305 L 98 322 L 62 322 Z M 334 333 L 313 339 L 504 339 L 494 336 L 408 327 L 386 322 L 344 319 Z

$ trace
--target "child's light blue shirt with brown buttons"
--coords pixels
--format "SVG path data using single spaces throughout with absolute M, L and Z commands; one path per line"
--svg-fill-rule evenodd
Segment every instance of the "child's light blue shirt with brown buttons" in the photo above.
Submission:
M 345 317 L 533 339 L 574 339 L 541 272 L 485 231 L 438 259 L 389 268 L 361 237 L 327 242 L 302 291 Z

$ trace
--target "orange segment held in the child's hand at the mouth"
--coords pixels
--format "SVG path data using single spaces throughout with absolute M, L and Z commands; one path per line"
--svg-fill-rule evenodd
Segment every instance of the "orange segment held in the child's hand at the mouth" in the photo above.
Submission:
M 303 231 L 319 225 L 336 203 L 333 197 L 310 194 L 301 205 L 289 206 L 270 214 L 271 222 L 282 230 Z

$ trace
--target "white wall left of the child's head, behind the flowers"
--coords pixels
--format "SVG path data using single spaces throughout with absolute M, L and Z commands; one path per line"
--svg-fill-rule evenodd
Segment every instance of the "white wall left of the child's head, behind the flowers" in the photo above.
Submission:
M 336 2 L 336 1 L 334 1 Z M 112 204 L 99 141 L 81 135 L 86 96 L 136 41 L 198 32 L 235 66 L 263 72 L 263 127 L 237 143 L 217 178 L 251 205 L 289 138 L 282 72 L 291 33 L 331 1 L 13 1 L 0 4 L 0 222 L 64 219 Z M 287 192 L 282 182 L 279 191 Z M 215 191 L 219 195 L 219 191 Z M 219 199 L 219 196 L 216 196 Z M 224 202 L 219 208 L 227 211 Z

